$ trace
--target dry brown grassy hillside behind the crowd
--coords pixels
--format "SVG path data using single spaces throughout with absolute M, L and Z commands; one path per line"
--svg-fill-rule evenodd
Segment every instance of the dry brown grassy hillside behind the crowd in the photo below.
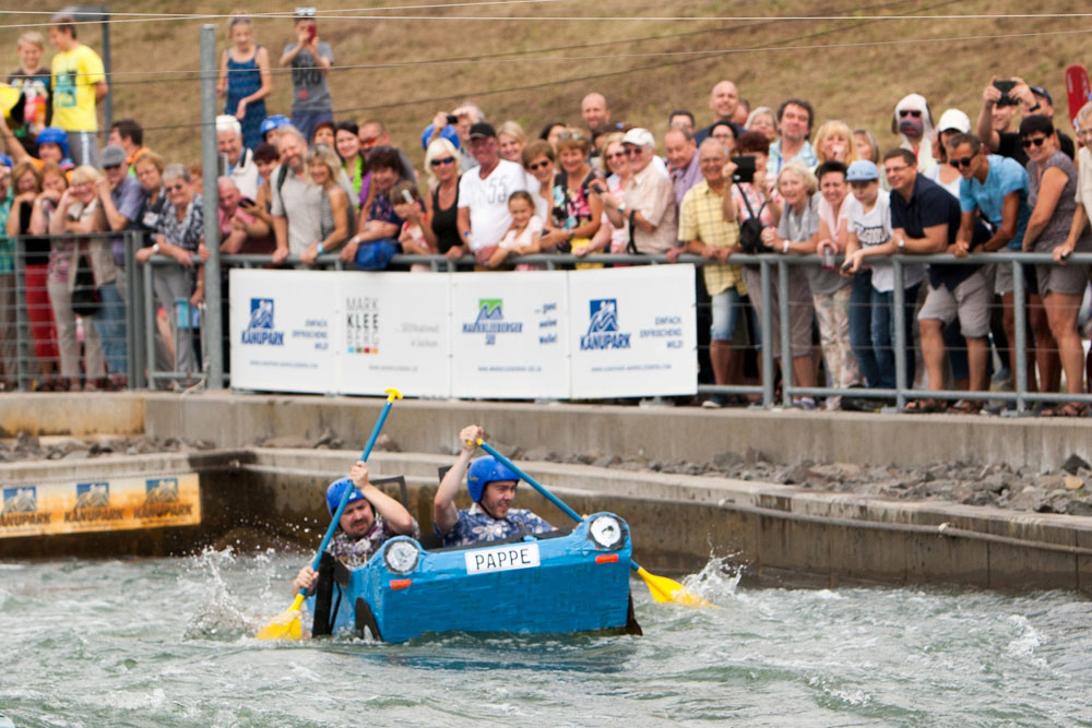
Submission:
M 463 99 L 477 102 L 496 122 L 517 119 L 537 133 L 547 120 L 579 122 L 581 97 L 600 91 L 615 120 L 641 123 L 658 136 L 675 108 L 689 108 L 699 124 L 708 123 L 709 89 L 732 79 L 752 105 L 776 106 L 790 95 L 804 96 L 815 105 L 817 122 L 840 118 L 868 127 L 886 146 L 894 141 L 890 115 L 901 96 L 924 94 L 934 118 L 957 106 L 973 119 L 993 73 L 1046 85 L 1060 122 L 1066 116 L 1066 65 L 1092 62 L 1087 51 L 1092 23 L 1042 16 L 1079 9 L 1035 0 L 556 0 L 452 2 L 440 9 L 423 7 L 435 3 L 397 5 L 396 0 L 369 2 L 367 9 L 360 4 L 333 0 L 319 9 L 319 35 L 333 45 L 339 67 L 331 74 L 336 116 L 382 119 L 418 163 L 420 130 L 437 110 Z M 219 0 L 150 1 L 114 3 L 111 10 L 226 14 L 239 7 Z M 976 13 L 1038 16 L 966 17 Z M 335 14 L 344 16 L 327 17 Z M 875 15 L 918 17 L 871 20 Z M 962 17 L 921 17 L 925 15 Z M 8 64 L 14 68 L 14 40 L 25 28 L 12 26 L 44 19 L 17 12 L 4 17 L 0 43 L 11 49 Z M 454 20 L 459 17 L 474 20 Z M 170 159 L 195 159 L 200 150 L 195 71 L 203 22 L 217 24 L 218 52 L 226 38 L 224 19 L 111 26 L 115 118 L 139 119 L 149 129 L 145 143 Z M 290 25 L 286 19 L 254 21 L 257 39 L 270 48 L 274 64 L 293 38 Z M 81 28 L 80 37 L 100 48 L 97 26 Z M 289 92 L 288 77 L 275 69 L 271 112 L 287 114 Z

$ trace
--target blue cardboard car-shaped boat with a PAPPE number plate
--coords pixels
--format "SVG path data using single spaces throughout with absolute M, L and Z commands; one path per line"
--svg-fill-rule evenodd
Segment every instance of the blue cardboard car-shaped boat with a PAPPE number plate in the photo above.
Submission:
M 425 633 L 640 634 L 629 592 L 629 526 L 594 513 L 572 529 L 468 547 L 397 536 L 346 569 L 323 554 L 308 599 L 314 636 L 351 631 L 405 642 Z

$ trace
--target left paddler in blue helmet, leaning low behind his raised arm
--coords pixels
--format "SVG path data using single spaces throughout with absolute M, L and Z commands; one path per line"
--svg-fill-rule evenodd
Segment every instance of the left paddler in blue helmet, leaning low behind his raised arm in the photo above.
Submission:
M 357 461 L 347 478 L 334 480 L 327 488 L 327 508 L 331 516 L 337 510 L 346 488 L 352 488 L 353 492 L 342 511 L 337 530 L 327 547 L 327 551 L 343 564 L 349 569 L 364 565 L 392 536 L 420 539 L 420 527 L 405 506 L 368 481 L 367 463 Z M 307 564 L 292 582 L 293 594 L 299 594 L 302 588 L 312 590 L 318 577 L 318 572 Z

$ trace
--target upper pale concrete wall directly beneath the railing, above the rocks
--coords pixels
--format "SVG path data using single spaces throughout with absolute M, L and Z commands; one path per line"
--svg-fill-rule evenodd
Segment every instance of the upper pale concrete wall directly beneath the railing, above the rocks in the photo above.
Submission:
M 367 440 L 382 401 L 363 397 L 149 395 L 149 434 L 213 440 L 318 439 L 331 428 Z M 1070 453 L 1092 462 L 1092 419 L 1009 419 L 958 415 L 703 410 L 693 407 L 549 406 L 404 399 L 384 431 L 405 452 L 454 447 L 459 429 L 483 425 L 490 440 L 556 453 L 643 455 L 708 462 L 720 452 L 761 451 L 774 462 L 804 458 L 886 465 L 973 461 L 1057 467 Z

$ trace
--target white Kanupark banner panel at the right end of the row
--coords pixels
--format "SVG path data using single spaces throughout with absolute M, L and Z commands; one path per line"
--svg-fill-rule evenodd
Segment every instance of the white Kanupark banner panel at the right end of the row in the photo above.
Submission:
M 569 273 L 572 397 L 693 394 L 693 265 Z

